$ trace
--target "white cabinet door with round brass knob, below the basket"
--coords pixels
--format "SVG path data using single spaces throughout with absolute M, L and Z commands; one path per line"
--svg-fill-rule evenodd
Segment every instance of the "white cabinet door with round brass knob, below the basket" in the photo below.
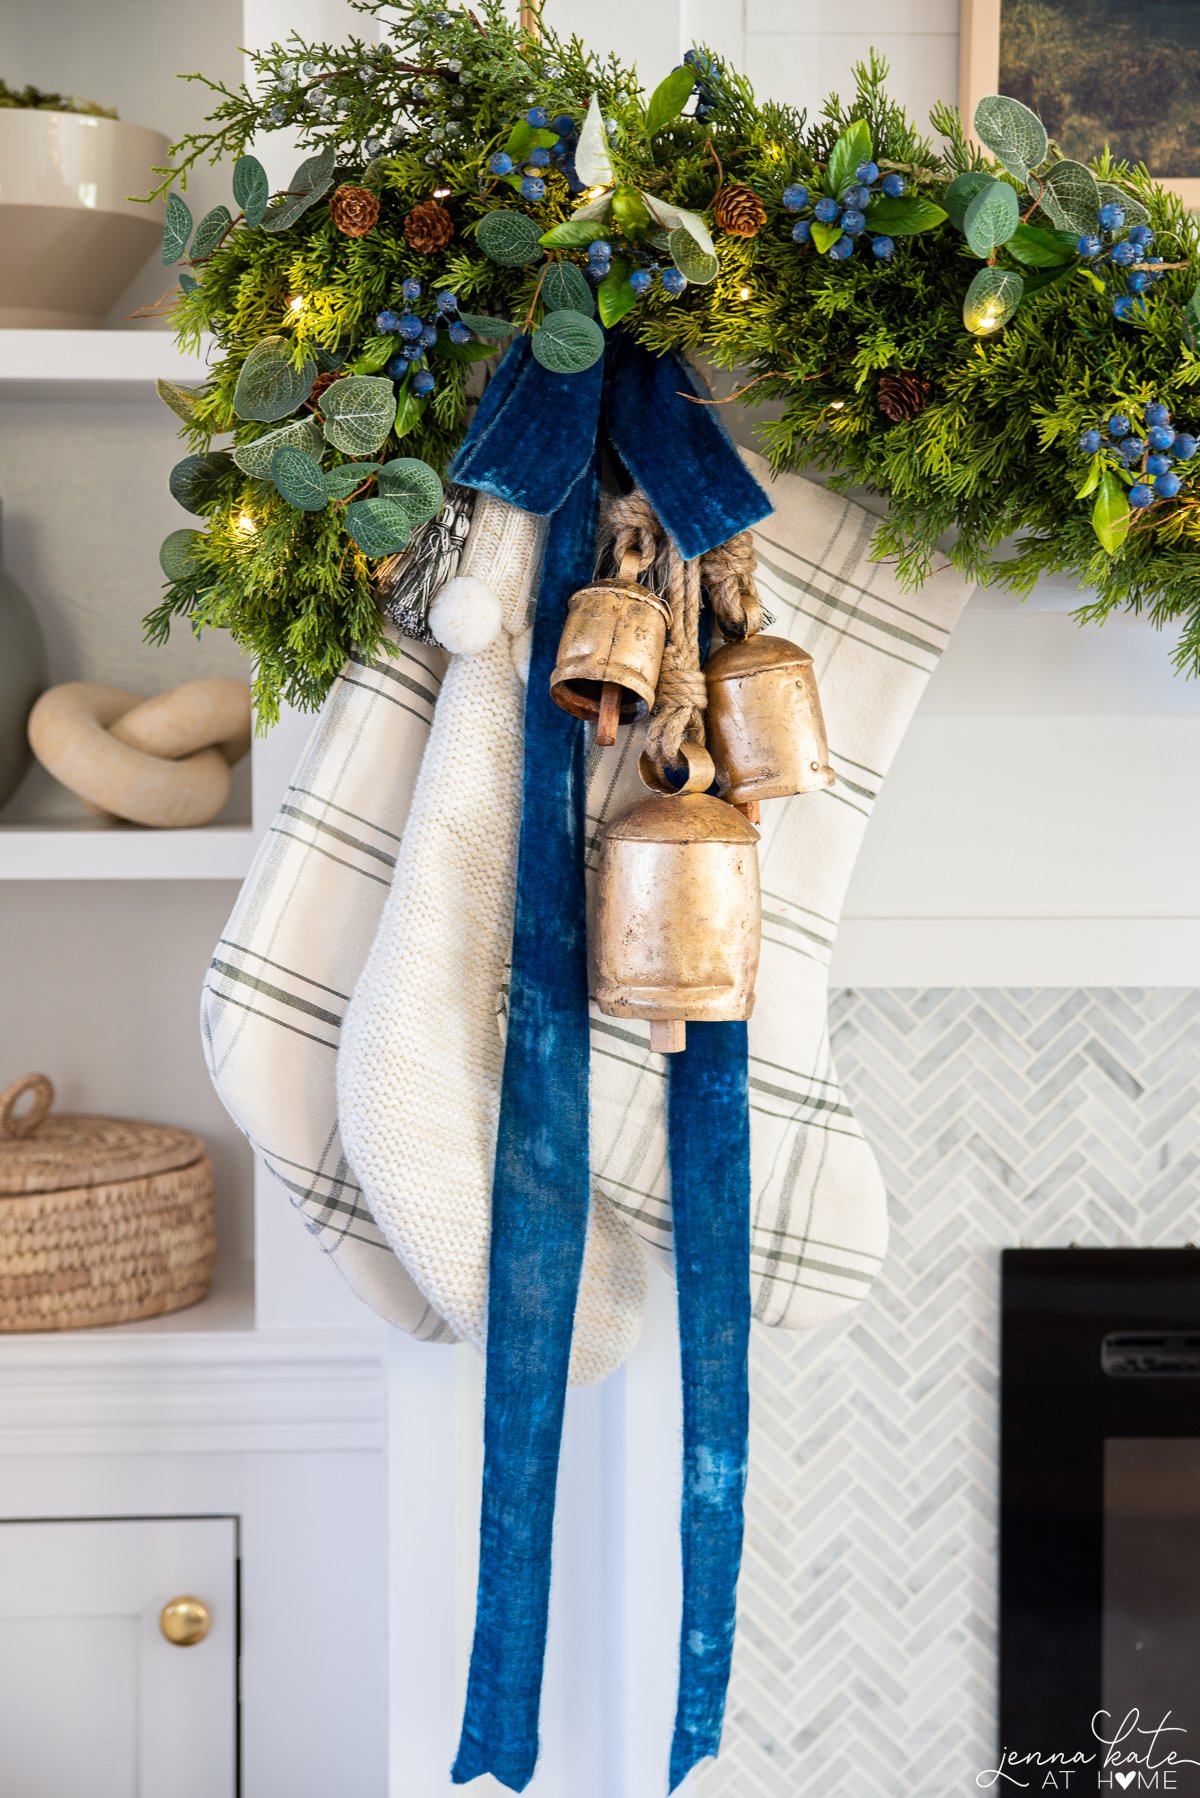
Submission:
M 236 1767 L 236 1519 L 0 1523 L 0 1798 L 234 1798 Z

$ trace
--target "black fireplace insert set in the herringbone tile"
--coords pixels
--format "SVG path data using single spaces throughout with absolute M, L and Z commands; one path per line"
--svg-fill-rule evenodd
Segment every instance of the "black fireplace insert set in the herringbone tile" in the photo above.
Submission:
M 1079 1757 L 1031 1791 L 1200 1794 L 1200 1253 L 1002 1268 L 1000 1748 Z

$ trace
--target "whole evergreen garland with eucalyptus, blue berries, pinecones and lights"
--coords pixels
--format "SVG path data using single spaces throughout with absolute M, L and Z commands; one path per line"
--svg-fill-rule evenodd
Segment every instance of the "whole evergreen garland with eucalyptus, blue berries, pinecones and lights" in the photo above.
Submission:
M 707 50 L 646 95 L 615 58 L 529 36 L 502 0 L 477 13 L 405 0 L 387 16 L 383 45 L 293 38 L 257 54 L 257 92 L 207 83 L 209 131 L 158 171 L 164 261 L 182 259 L 180 343 L 196 351 L 212 333 L 218 354 L 198 390 L 160 385 L 191 451 L 173 491 L 205 529 L 164 545 L 151 636 L 176 617 L 230 629 L 255 662 L 261 723 L 281 698 L 320 703 L 345 654 L 380 644 L 372 565 L 435 509 L 428 471 L 444 473 L 462 441 L 473 363 L 527 331 L 549 367 L 581 369 L 606 327 L 736 370 L 745 403 L 770 406 L 761 437 L 777 469 L 817 466 L 885 494 L 874 547 L 903 579 L 923 579 L 943 545 L 1022 593 L 1065 574 L 1094 590 L 1081 619 L 1126 606 L 1180 619 L 1177 660 L 1200 667 L 1200 493 L 1184 478 L 1157 498 L 1146 455 L 1119 453 L 1103 428 L 1124 414 L 1137 439 L 1151 406 L 1200 432 L 1196 223 L 1144 169 L 1103 155 L 1088 173 L 1002 99 L 977 115 L 995 156 L 948 106 L 930 120 L 936 147 L 889 99 L 878 56 L 849 102 L 808 120 L 757 102 Z M 250 144 L 284 126 L 306 160 L 272 201 Z M 237 219 L 218 207 L 193 225 L 182 191 L 205 156 L 236 158 Z M 799 191 L 806 210 L 831 194 L 849 228 L 856 167 L 874 169 L 862 239 L 828 254 L 840 223 L 813 212 L 811 241 L 793 241 L 810 230 Z M 347 185 L 380 201 L 360 236 L 329 205 Z M 374 214 L 362 192 L 351 201 Z M 434 236 L 443 210 L 453 228 L 434 248 L 407 225 L 430 201 Z M 1106 232 L 1094 223 L 1105 201 L 1123 214 Z M 1135 221 L 1153 257 L 1117 250 Z M 1081 254 L 1092 230 L 1097 248 Z M 1135 297 L 1130 266 L 1144 270 Z M 405 280 L 441 322 L 407 372 L 389 324 L 408 306 Z M 437 295 L 453 295 L 444 311 Z M 268 399 L 246 406 L 252 352 Z M 327 423 L 345 378 L 371 406 L 387 399 L 358 437 Z M 252 446 L 284 428 L 288 453 L 268 446 L 254 462 Z

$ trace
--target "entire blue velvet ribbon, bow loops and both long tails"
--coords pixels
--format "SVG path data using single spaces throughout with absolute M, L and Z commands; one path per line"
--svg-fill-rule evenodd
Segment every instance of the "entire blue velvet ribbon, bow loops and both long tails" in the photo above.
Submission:
M 518 340 L 450 469 L 549 516 L 525 694 L 509 1027 L 491 1196 L 475 1643 L 452 1778 L 524 1791 L 538 1758 L 554 1489 L 590 1197 L 585 732 L 549 698 L 567 601 L 592 579 L 599 466 L 615 451 L 685 557 L 770 512 L 675 356 L 613 336 L 585 374 Z M 671 1201 L 684 1379 L 684 1624 L 671 1789 L 716 1753 L 741 1557 L 750 1320 L 743 1025 L 671 1057 Z

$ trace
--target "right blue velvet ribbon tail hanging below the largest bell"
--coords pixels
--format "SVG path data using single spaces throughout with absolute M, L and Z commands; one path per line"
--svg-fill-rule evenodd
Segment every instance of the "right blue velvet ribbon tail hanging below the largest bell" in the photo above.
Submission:
M 684 1618 L 675 1791 L 721 1740 L 748 1460 L 750 1111 L 745 1023 L 689 1023 L 667 1140 L 684 1377 Z

